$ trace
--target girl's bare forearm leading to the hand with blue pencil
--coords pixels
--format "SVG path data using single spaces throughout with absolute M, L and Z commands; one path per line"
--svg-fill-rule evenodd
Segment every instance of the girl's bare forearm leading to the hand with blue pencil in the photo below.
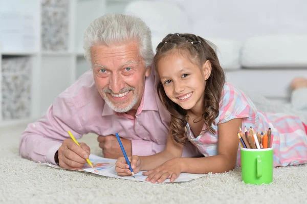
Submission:
M 150 156 L 139 156 L 141 160 L 140 171 L 155 169 L 172 158 L 181 157 L 183 148 L 184 145 L 173 141 L 173 139 L 168 136 L 164 151 Z

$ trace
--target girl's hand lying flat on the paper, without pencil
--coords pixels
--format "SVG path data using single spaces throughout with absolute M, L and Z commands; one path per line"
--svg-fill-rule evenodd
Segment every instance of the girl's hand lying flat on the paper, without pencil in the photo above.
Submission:
M 143 172 L 143 175 L 148 176 L 146 182 L 151 183 L 162 183 L 166 178 L 170 179 L 170 182 L 173 182 L 182 171 L 181 163 L 179 158 L 173 158 L 160 165 L 156 169 Z

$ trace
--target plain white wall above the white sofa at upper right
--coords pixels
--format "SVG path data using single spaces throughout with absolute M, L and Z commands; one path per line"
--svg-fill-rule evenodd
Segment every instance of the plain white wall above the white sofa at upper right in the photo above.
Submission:
M 305 0 L 165 0 L 178 3 L 192 31 L 205 38 L 246 39 L 267 34 L 307 34 Z M 171 15 L 171 11 L 169 11 Z

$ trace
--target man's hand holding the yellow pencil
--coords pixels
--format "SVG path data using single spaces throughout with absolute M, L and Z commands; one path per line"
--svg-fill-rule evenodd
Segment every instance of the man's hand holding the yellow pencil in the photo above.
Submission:
M 81 169 L 89 158 L 91 149 L 85 143 L 79 147 L 72 139 L 65 139 L 58 150 L 59 165 L 67 169 Z

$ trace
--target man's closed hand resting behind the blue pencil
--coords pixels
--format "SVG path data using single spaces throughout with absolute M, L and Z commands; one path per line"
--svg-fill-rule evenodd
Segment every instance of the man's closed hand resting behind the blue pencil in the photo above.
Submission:
M 122 150 L 118 144 L 116 136 L 111 134 L 107 136 L 99 135 L 97 138 L 99 147 L 102 149 L 102 153 L 105 158 L 118 158 L 123 156 Z M 131 141 L 121 138 L 121 142 L 124 146 L 127 156 L 132 155 Z

